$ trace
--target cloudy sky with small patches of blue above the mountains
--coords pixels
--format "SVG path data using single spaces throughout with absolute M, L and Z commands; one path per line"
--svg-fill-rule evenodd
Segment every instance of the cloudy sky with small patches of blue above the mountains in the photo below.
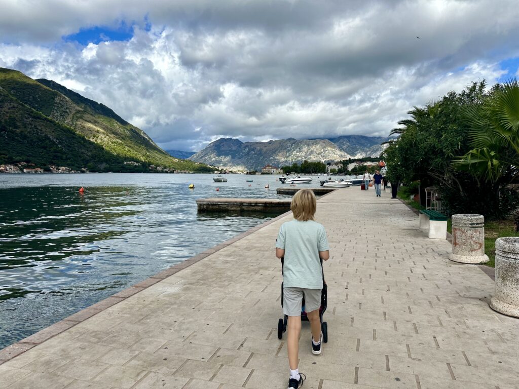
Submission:
M 384 136 L 518 75 L 517 0 L 2 0 L 0 66 L 101 102 L 165 149 Z

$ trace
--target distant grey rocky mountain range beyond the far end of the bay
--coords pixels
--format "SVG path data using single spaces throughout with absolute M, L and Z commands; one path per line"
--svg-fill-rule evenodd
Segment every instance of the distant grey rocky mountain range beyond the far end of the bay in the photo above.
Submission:
M 296 140 L 294 138 L 268 142 L 241 142 L 235 138 L 220 138 L 198 151 L 190 160 L 231 170 L 260 170 L 263 166 L 286 166 L 311 162 L 331 162 L 349 158 L 378 157 L 386 137 L 344 135 L 331 139 Z

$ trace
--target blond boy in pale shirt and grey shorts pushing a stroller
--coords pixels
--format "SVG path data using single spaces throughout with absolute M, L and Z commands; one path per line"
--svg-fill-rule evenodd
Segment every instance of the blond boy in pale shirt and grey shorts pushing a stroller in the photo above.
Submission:
M 319 355 L 322 351 L 319 308 L 323 274 L 319 258 L 330 258 L 330 246 L 324 227 L 314 221 L 316 208 L 316 196 L 311 189 L 297 191 L 290 204 L 294 220 L 283 223 L 276 240 L 276 257 L 284 257 L 283 313 L 288 316 L 289 389 L 302 386 L 306 378 L 298 369 L 303 295 L 312 332 L 312 353 Z

